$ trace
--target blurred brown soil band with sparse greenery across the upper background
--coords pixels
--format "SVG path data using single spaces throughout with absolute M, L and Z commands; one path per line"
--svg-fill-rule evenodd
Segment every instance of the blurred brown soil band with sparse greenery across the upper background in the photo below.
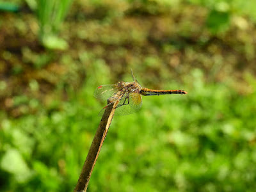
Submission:
M 205 27 L 207 10 L 200 6 L 154 13 L 129 6 L 113 10 L 109 4 L 74 3 L 60 34 L 69 44 L 65 51 L 40 45 L 32 12 L 0 13 L 0 109 L 15 117 L 40 105 L 58 109 L 56 100 L 67 100 L 68 89 L 76 92 L 97 60 L 109 66 L 113 81 L 133 68 L 136 74 L 147 72 L 140 79 L 159 88 L 201 68 L 205 81 L 232 77 L 242 84 L 241 93 L 248 90 L 244 72 L 256 72 L 256 28 L 248 19 L 232 17 L 225 33 L 212 35 Z

